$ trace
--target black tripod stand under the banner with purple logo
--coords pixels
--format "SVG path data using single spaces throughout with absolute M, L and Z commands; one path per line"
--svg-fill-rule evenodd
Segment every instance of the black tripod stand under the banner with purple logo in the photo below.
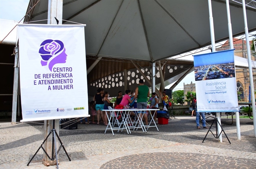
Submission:
M 47 138 L 52 134 L 52 158 L 50 158 L 50 156 L 47 154 L 46 150 L 44 149 L 43 145 L 44 145 L 44 142 L 46 142 Z M 59 147 L 58 151 L 57 151 L 57 146 L 56 146 L 56 136 L 59 140 L 59 142 L 61 143 L 61 146 Z M 52 130 L 49 132 L 49 134 L 47 135 L 47 137 L 44 139 L 43 143 L 41 144 L 41 146 L 38 148 L 38 150 L 35 152 L 35 154 L 33 155 L 33 157 L 31 158 L 31 160 L 29 161 L 29 163 L 33 160 L 33 158 L 35 157 L 35 155 L 38 153 L 39 149 L 43 149 L 43 151 L 45 152 L 45 154 L 47 155 L 47 157 L 50 159 L 50 160 L 55 160 L 56 158 L 56 165 L 57 165 L 57 169 L 58 169 L 58 152 L 60 151 L 61 147 L 63 147 L 66 155 L 67 155 L 67 158 L 71 161 L 69 155 L 67 154 L 67 151 L 64 147 L 64 145 L 62 144 L 61 142 L 61 139 L 60 137 L 58 136 L 58 133 L 56 132 L 55 130 L 55 120 L 53 120 L 53 125 L 52 125 Z M 55 149 L 55 150 L 54 150 Z M 55 152 L 55 155 L 54 155 L 54 152 Z M 29 163 L 27 164 L 27 166 L 29 166 Z

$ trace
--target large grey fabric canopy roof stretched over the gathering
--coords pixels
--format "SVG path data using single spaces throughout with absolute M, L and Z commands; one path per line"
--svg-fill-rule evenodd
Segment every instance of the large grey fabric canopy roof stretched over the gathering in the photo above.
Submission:
M 40 1 L 24 22 L 47 24 L 47 10 Z M 246 13 L 248 30 L 255 31 L 255 8 Z M 226 40 L 225 0 L 212 0 L 212 14 L 215 41 Z M 241 4 L 230 0 L 230 16 L 233 35 L 244 34 Z M 92 56 L 152 62 L 211 44 L 207 0 L 63 0 L 63 20 L 87 25 L 86 54 Z

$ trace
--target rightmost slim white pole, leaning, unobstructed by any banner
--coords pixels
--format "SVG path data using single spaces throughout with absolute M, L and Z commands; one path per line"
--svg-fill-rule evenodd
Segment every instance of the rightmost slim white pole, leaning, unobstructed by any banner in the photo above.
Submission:
M 248 57 L 248 67 L 249 67 L 249 77 L 250 77 L 250 91 L 252 92 L 252 107 L 253 107 L 253 128 L 254 128 L 254 137 L 256 137 L 256 113 L 255 113 L 255 97 L 254 97 L 254 87 L 253 87 L 253 69 L 252 69 L 252 60 L 250 55 L 250 43 L 248 35 L 248 26 L 247 26 L 247 16 L 245 9 L 245 2 L 243 1 L 243 12 L 244 12 L 244 32 L 246 39 L 246 48 L 247 48 L 247 57 Z

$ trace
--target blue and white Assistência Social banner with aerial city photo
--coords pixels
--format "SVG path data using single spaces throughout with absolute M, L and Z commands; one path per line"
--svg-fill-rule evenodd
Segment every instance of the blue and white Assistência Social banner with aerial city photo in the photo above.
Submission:
M 198 112 L 237 112 L 234 50 L 194 56 Z

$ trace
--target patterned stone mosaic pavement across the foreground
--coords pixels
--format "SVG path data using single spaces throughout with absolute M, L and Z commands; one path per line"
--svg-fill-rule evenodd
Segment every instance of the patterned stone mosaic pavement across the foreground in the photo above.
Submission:
M 212 118 L 207 119 L 210 126 Z M 105 126 L 79 124 L 76 130 L 60 130 L 71 161 L 64 150 L 59 153 L 59 169 L 256 169 L 256 137 L 253 120 L 240 119 L 241 140 L 237 140 L 236 122 L 221 118 L 225 135 L 223 143 L 209 133 L 197 129 L 195 117 L 175 117 L 168 125 L 157 125 L 147 133 L 141 130 L 127 135 Z M 215 127 L 215 126 L 214 126 Z M 43 151 L 26 166 L 43 142 L 42 124 L 0 123 L 0 169 L 41 169 Z M 215 132 L 214 129 L 212 129 Z M 47 169 L 56 169 L 48 166 Z

